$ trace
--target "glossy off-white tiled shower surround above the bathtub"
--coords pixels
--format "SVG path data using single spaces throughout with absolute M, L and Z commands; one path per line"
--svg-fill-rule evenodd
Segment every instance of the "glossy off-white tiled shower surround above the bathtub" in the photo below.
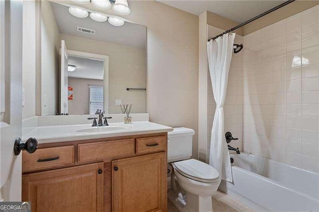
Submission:
M 225 130 L 242 136 L 233 145 L 319 171 L 319 6 L 245 35 L 243 45 L 243 56 L 233 57 L 243 69 L 231 68 L 225 104 Z

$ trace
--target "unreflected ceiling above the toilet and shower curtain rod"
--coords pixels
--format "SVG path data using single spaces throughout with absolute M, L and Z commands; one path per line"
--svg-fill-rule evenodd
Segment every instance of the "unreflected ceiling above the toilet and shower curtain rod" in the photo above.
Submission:
M 175 8 L 200 15 L 205 10 L 238 23 L 245 22 L 285 0 L 159 0 Z

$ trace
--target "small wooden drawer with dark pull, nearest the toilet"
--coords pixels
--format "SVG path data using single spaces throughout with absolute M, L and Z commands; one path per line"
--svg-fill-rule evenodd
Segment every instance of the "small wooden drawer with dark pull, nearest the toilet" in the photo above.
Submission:
M 165 151 L 167 139 L 166 136 L 137 138 L 136 139 L 136 153 Z

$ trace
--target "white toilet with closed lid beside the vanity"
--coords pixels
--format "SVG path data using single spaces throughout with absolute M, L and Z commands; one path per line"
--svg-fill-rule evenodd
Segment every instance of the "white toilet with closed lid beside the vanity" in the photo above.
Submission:
M 212 212 L 211 196 L 219 186 L 219 173 L 204 162 L 189 159 L 194 134 L 194 130 L 184 127 L 168 132 L 167 159 L 173 168 L 168 196 L 172 201 L 179 200 L 180 205 L 185 206 L 184 212 Z M 178 187 L 187 192 L 185 202 Z

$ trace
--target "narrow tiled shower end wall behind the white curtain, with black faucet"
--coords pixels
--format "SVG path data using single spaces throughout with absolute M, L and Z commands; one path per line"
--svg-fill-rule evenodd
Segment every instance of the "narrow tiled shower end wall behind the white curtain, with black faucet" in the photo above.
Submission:
M 208 37 L 214 37 L 220 33 L 224 32 L 224 30 L 216 28 L 214 26 L 208 25 Z M 262 39 L 261 33 L 259 33 L 256 39 Z M 243 36 L 236 35 L 235 41 L 236 44 L 243 43 Z M 257 41 L 256 41 L 257 42 Z M 261 51 L 260 44 L 256 46 L 255 51 Z M 229 70 L 228 76 L 228 87 L 226 93 L 226 100 L 224 105 L 224 115 L 225 115 L 225 132 L 232 132 L 234 137 L 238 137 L 239 139 L 236 141 L 232 141 L 233 147 L 239 147 L 242 150 L 242 139 L 243 139 L 243 66 L 244 54 L 250 54 L 244 50 L 240 51 L 237 54 L 232 55 L 232 61 Z M 261 69 L 261 66 L 259 67 Z M 209 148 L 210 148 L 210 135 L 211 128 L 214 118 L 214 113 L 216 109 L 216 103 L 213 98 L 213 91 L 211 87 L 211 80 L 209 71 L 207 71 L 207 90 L 208 90 L 208 113 L 207 113 L 207 161 L 209 158 Z M 225 141 L 226 142 L 226 141 Z

